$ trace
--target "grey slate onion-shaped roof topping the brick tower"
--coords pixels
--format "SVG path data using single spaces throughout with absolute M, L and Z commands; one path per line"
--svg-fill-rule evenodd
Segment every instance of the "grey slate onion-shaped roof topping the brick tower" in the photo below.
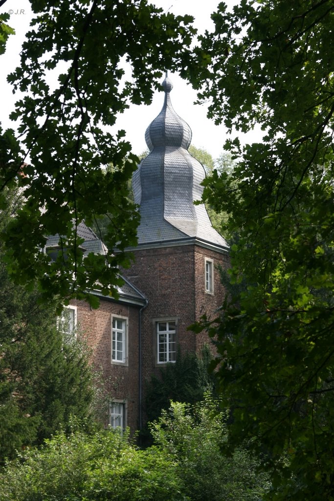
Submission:
M 159 115 L 148 126 L 148 156 L 133 175 L 135 202 L 140 206 L 139 244 L 195 237 L 228 247 L 212 227 L 204 204 L 194 205 L 203 193 L 202 164 L 190 155 L 189 125 L 174 111 L 171 80 L 163 82 L 165 99 Z

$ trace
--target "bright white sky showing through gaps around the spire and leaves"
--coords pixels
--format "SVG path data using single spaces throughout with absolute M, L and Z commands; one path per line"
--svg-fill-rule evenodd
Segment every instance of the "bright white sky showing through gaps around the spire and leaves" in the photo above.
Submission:
M 229 6 L 237 0 L 225 0 Z M 200 33 L 211 29 L 213 23 L 210 19 L 216 10 L 219 0 L 152 0 L 157 7 L 171 11 L 176 15 L 190 14 L 195 18 L 195 27 Z M 13 96 L 11 86 L 7 83 L 8 73 L 14 71 L 20 64 L 20 50 L 25 34 L 29 29 L 32 12 L 28 0 L 7 0 L 0 8 L 0 12 L 11 12 L 9 25 L 15 28 L 16 35 L 11 36 L 7 44 L 6 54 L 0 56 L 0 90 L 1 106 L 0 121 L 4 128 L 15 125 L 8 120 L 10 112 L 14 109 L 17 95 Z M 192 129 L 192 144 L 198 148 L 205 148 L 213 157 L 220 155 L 223 144 L 227 138 L 224 126 L 214 125 L 206 117 L 206 105 L 194 105 L 195 91 L 186 84 L 178 75 L 170 74 L 173 82 L 171 101 L 178 115 L 180 115 Z M 131 105 L 129 110 L 119 115 L 116 123 L 117 130 L 126 131 L 126 139 L 133 146 L 133 151 L 140 154 L 146 149 L 144 134 L 147 126 L 158 115 L 163 104 L 163 93 L 156 92 L 150 106 Z M 244 141 L 254 141 L 256 134 L 250 132 Z

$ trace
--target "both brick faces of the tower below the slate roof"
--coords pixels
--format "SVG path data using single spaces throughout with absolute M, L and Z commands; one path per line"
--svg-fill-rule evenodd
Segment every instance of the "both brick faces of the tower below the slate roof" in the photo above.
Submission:
M 205 333 L 194 334 L 187 330 L 206 312 L 210 317 L 222 304 L 224 290 L 220 283 L 218 265 L 226 268 L 225 254 L 198 245 L 180 245 L 151 249 L 137 249 L 135 262 L 124 274 L 148 299 L 142 321 L 143 391 L 145 380 L 158 372 L 156 363 L 157 319 L 178 321 L 177 341 L 181 352 L 201 353 L 204 343 L 209 343 Z M 204 259 L 214 263 L 214 292 L 205 293 Z M 145 394 L 143 395 L 145 399 Z

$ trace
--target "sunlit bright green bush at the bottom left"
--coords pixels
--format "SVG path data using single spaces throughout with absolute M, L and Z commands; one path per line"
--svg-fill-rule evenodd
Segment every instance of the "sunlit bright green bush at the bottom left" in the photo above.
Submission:
M 186 501 L 177 461 L 114 431 L 60 433 L 0 475 L 0 501 Z M 183 489 L 184 490 L 184 489 Z

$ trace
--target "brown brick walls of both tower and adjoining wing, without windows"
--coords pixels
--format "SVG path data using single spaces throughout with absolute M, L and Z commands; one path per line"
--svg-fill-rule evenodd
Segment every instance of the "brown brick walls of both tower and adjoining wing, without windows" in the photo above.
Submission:
M 203 313 L 213 318 L 225 294 L 217 267 L 228 266 L 228 257 L 198 245 L 180 245 L 137 249 L 135 262 L 124 275 L 146 296 L 148 306 L 142 312 L 142 383 L 159 371 L 156 360 L 156 325 L 160 319 L 177 321 L 177 342 L 181 352 L 201 353 L 210 343 L 205 333 L 194 334 L 187 327 Z M 205 292 L 205 258 L 213 260 L 213 294 Z M 72 301 L 77 306 L 77 323 L 92 349 L 92 364 L 104 381 L 110 399 L 127 404 L 127 425 L 138 429 L 139 419 L 139 309 L 101 299 L 93 310 L 85 301 Z M 128 364 L 111 362 L 112 315 L 128 318 Z M 144 416 L 145 419 L 145 416 Z

